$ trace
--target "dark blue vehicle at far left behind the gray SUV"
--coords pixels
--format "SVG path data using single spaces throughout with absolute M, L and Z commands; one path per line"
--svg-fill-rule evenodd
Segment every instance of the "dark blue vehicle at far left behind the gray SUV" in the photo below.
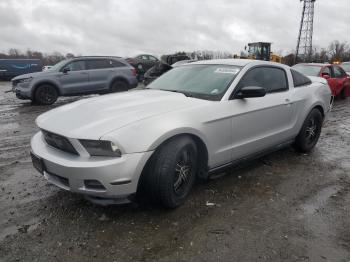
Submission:
M 0 59 L 0 79 L 40 72 L 41 67 L 40 59 Z

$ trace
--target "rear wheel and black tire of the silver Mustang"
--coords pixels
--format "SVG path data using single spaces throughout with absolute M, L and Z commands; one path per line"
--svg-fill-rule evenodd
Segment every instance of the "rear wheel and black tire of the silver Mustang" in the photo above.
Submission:
M 317 144 L 321 135 L 323 116 L 320 110 L 314 108 L 306 117 L 304 124 L 295 139 L 294 147 L 302 153 L 310 152 Z

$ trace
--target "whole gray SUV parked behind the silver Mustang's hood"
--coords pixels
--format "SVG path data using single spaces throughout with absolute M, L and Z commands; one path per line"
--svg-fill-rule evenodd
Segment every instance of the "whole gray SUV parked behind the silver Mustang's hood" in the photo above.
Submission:
M 53 104 L 59 96 L 119 92 L 137 86 L 135 68 L 117 57 L 67 59 L 44 72 L 11 81 L 17 98 L 43 105 Z

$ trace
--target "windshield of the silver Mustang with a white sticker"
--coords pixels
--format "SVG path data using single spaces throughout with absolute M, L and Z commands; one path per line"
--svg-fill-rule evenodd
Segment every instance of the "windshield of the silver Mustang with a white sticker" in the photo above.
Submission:
M 156 79 L 148 88 L 220 100 L 240 70 L 241 67 L 230 65 L 180 66 Z

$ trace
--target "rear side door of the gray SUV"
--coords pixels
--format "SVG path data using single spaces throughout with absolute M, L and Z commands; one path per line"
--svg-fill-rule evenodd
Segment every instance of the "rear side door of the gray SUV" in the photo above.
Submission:
M 87 60 L 89 69 L 89 85 L 90 92 L 98 92 L 109 88 L 109 78 L 113 74 L 112 60 L 107 58 L 98 58 Z

